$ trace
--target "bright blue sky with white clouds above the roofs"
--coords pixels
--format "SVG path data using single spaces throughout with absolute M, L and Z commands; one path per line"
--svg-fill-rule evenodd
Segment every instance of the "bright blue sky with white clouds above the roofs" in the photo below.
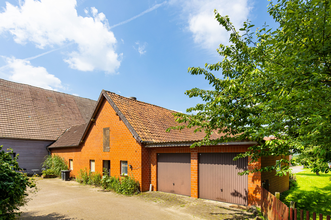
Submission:
M 185 112 L 201 102 L 185 90 L 212 89 L 187 68 L 221 60 L 228 32 L 267 22 L 268 1 L 0 1 L 0 78 L 97 100 L 102 89 Z M 221 77 L 220 73 L 215 73 Z

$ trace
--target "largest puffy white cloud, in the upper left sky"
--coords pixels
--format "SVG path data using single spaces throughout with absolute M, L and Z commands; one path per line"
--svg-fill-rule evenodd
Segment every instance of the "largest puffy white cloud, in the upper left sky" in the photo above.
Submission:
M 75 7 L 75 0 L 25 0 L 19 6 L 6 2 L 0 13 L 0 33 L 9 32 L 16 43 L 31 42 L 41 49 L 75 43 L 77 50 L 68 51 L 64 58 L 70 68 L 115 73 L 121 60 L 106 16 L 94 7 L 93 17 L 78 16 Z

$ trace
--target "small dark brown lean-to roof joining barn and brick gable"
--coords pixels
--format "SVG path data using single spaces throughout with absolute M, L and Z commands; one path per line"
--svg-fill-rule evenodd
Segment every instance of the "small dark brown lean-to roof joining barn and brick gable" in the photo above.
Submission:
M 60 138 L 49 147 L 78 146 L 85 131 L 86 124 L 69 128 Z

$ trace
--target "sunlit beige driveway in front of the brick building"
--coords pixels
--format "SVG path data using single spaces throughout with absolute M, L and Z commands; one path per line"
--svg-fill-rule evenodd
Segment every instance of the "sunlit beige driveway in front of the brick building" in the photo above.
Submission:
M 38 179 L 39 191 L 22 208 L 19 219 L 253 219 L 227 203 L 161 192 L 124 196 L 75 181 Z

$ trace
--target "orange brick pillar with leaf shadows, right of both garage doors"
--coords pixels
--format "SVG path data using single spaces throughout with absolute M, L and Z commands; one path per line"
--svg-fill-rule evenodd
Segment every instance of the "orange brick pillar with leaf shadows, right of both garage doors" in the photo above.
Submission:
M 252 159 L 249 157 L 248 162 Z M 248 169 L 261 168 L 261 158 L 248 165 Z M 261 206 L 261 173 L 248 174 L 248 205 Z

